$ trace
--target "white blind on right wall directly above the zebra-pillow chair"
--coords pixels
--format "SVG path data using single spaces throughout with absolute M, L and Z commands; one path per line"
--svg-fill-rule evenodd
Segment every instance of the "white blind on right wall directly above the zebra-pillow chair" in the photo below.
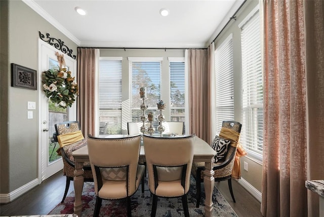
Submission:
M 232 34 L 215 50 L 216 133 L 224 120 L 234 120 Z

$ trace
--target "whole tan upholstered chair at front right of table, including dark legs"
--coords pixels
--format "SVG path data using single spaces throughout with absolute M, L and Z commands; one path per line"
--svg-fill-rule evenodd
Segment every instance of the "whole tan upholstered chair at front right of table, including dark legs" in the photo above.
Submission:
M 184 216 L 189 216 L 187 193 L 195 135 L 155 137 L 143 135 L 149 189 L 153 195 L 151 216 L 158 197 L 182 198 Z

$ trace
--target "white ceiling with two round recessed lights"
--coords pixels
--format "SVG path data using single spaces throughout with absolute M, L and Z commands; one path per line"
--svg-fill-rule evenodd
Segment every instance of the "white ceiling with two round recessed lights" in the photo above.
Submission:
M 206 48 L 244 1 L 23 2 L 80 47 Z M 77 14 L 75 7 L 83 8 L 87 14 Z M 161 8 L 167 8 L 169 16 L 161 16 Z

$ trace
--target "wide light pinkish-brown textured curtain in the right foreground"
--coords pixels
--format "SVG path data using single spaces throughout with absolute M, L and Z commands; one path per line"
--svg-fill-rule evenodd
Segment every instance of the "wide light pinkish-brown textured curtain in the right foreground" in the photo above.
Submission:
M 316 3 L 309 2 L 305 5 L 307 4 Z M 318 139 L 323 133 L 310 132 L 314 127 L 319 127 L 318 129 L 323 127 L 323 122 L 319 119 L 323 117 L 323 112 L 317 111 L 323 104 L 320 102 L 312 104 L 309 100 L 311 97 L 321 98 L 321 103 L 323 101 L 323 79 L 320 81 L 318 78 L 323 78 L 323 71 L 322 67 L 317 68 L 317 71 L 310 71 L 306 67 L 309 63 L 318 64 L 314 59 L 313 62 L 309 62 L 307 53 L 311 52 L 316 56 L 320 55 L 320 52 L 310 51 L 311 47 L 308 44 L 319 42 L 314 42 L 314 39 L 305 42 L 308 35 L 305 31 L 304 12 L 305 17 L 308 13 L 313 13 L 304 11 L 303 1 L 264 1 L 264 134 L 261 202 L 261 212 L 264 216 L 307 216 L 307 209 L 314 211 L 316 204 L 306 205 L 305 180 L 323 178 L 324 152 Z M 314 14 L 312 16 L 317 19 Z M 320 17 L 322 16 L 320 14 Z M 320 22 L 322 27 L 322 19 Z M 317 79 L 315 83 L 318 89 L 312 94 L 309 89 L 314 88 L 314 84 L 310 84 L 309 79 Z M 312 110 L 316 110 L 315 114 L 310 114 Z M 310 116 L 316 117 L 310 121 Z M 310 142 L 311 137 L 316 137 L 314 142 Z M 309 152 L 310 149 L 313 153 Z M 309 162 L 310 158 L 314 162 L 312 165 Z M 312 176 L 310 171 L 316 175 Z M 318 202 L 317 215 L 314 213 L 316 211 L 309 216 L 318 216 Z

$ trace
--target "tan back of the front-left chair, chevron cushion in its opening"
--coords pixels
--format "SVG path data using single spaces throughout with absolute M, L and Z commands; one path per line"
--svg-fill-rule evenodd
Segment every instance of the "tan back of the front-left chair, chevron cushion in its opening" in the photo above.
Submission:
M 98 138 L 88 135 L 89 159 L 97 196 L 103 184 L 111 184 L 114 181 L 123 183 L 115 184 L 115 188 L 112 188 L 115 191 L 106 192 L 106 199 L 128 197 L 136 192 L 136 182 L 140 182 L 136 178 L 140 154 L 140 139 L 140 134 L 120 135 L 120 137 L 113 138 Z M 103 174 L 104 172 L 113 172 L 112 170 L 109 171 L 109 168 L 124 168 L 126 178 L 109 178 L 109 175 Z M 117 191 L 117 186 L 125 189 L 123 195 L 120 195 L 120 193 L 113 195 Z

